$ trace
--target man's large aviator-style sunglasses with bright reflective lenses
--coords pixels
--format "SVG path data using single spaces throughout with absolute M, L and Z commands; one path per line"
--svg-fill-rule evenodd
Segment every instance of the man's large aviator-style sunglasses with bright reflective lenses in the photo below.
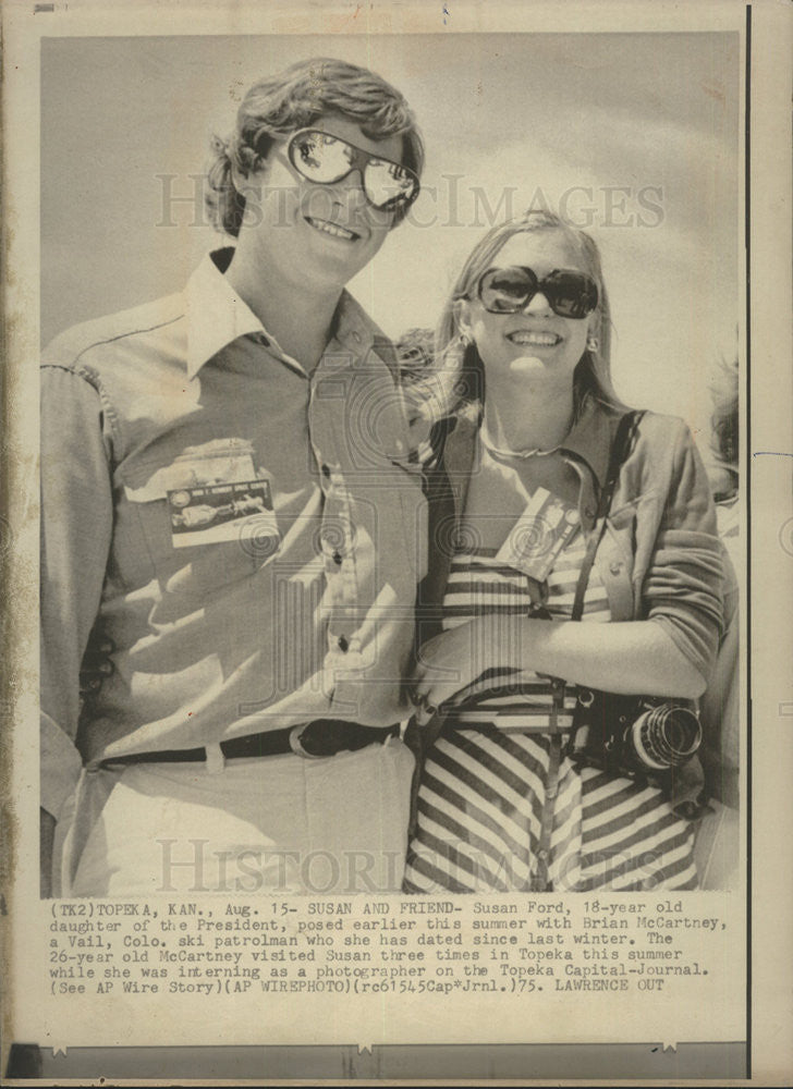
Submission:
M 361 171 L 366 199 L 375 208 L 395 211 L 418 196 L 418 178 L 407 167 L 362 151 L 339 136 L 303 129 L 289 142 L 289 161 L 307 181 L 334 185 L 353 170 Z

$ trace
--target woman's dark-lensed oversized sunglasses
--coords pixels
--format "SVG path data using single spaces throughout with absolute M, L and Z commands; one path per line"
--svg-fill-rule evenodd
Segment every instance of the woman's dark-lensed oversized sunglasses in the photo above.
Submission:
M 560 318 L 585 318 L 598 305 L 598 289 L 593 278 L 573 269 L 553 269 L 542 280 L 534 269 L 520 265 L 488 269 L 477 287 L 488 314 L 518 314 L 538 293 L 545 295 Z

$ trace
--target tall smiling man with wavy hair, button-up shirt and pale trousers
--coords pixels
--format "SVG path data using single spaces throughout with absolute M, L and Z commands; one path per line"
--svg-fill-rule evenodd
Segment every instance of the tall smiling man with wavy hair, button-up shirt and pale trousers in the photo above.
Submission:
M 402 96 L 256 84 L 208 206 L 236 246 L 44 359 L 42 857 L 56 892 L 398 890 L 424 499 L 344 284 L 418 192 Z M 91 629 L 112 672 L 80 709 Z

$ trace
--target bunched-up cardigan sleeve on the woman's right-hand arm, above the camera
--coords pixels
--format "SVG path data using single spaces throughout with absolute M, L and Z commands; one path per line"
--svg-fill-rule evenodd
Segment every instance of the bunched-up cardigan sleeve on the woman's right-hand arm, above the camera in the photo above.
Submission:
M 671 484 L 643 596 L 647 615 L 709 677 L 722 627 L 721 544 L 705 466 L 688 428 L 672 436 Z

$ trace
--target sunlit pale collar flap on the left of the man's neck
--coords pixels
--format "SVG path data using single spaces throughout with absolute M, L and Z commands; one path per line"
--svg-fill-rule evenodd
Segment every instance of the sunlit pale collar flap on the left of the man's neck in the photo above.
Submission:
M 223 276 L 233 254 L 233 246 L 207 254 L 187 281 L 187 376 L 191 379 L 239 337 L 266 333 L 259 319 Z

